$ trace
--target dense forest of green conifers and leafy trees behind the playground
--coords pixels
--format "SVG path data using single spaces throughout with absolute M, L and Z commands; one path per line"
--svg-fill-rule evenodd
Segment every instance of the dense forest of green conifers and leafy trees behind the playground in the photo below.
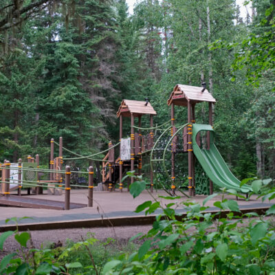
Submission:
M 249 2 L 243 19 L 234 0 L 143 0 L 131 15 L 125 0 L 2 0 L 1 160 L 48 161 L 59 136 L 76 153 L 96 153 L 118 142 L 122 99 L 150 98 L 162 124 L 175 85 L 206 82 L 232 171 L 274 177 L 275 1 Z M 207 104 L 196 117 L 208 123 Z M 176 121 L 186 118 L 176 108 Z

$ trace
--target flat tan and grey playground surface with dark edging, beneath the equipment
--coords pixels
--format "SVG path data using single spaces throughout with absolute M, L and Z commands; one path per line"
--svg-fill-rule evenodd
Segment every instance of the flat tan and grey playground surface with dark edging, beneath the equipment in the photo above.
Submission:
M 15 194 L 15 193 L 14 193 Z M 180 194 L 180 193 L 179 193 Z M 178 194 L 178 195 L 179 195 Z M 166 196 L 166 192 L 159 190 L 153 192 L 153 197 L 161 201 L 162 205 L 170 203 L 170 200 L 158 198 L 158 196 Z M 144 212 L 135 213 L 135 208 L 144 201 L 153 200 L 151 193 L 146 190 L 142 194 L 133 199 L 129 192 L 120 192 L 116 190 L 114 192 L 94 192 L 94 206 L 83 207 L 87 203 L 87 189 L 72 190 L 71 203 L 76 206 L 82 206 L 81 208 L 71 208 L 70 210 L 54 210 L 54 209 L 36 209 L 36 208 L 19 208 L 11 206 L 0 206 L 0 231 L 13 230 L 14 221 L 5 223 L 6 219 L 12 217 L 22 218 L 19 223 L 19 230 L 47 230 L 58 228 L 89 228 L 98 226 L 115 226 L 115 225 L 144 225 L 153 223 L 155 220 L 155 212 L 152 215 L 144 217 Z M 217 212 L 219 209 L 213 207 L 214 201 L 221 200 L 222 195 L 210 199 L 206 206 L 209 206 L 208 212 Z M 228 199 L 236 199 L 234 196 L 226 195 Z M 181 199 L 175 199 L 173 202 L 180 201 L 195 201 L 197 203 L 203 203 L 203 199 L 206 196 L 197 195 L 190 199 L 181 197 Z M 32 200 L 47 200 L 52 201 L 52 205 L 56 205 L 56 201 L 60 201 L 62 204 L 65 201 L 65 195 L 23 195 L 22 199 Z M 48 202 L 49 203 L 49 202 Z M 237 201 L 239 208 L 242 212 L 265 212 L 272 204 L 273 201 L 262 202 L 261 199 L 257 199 L 256 195 L 250 198 L 250 201 L 245 199 L 239 199 Z M 182 208 L 176 209 L 179 215 L 184 214 Z

